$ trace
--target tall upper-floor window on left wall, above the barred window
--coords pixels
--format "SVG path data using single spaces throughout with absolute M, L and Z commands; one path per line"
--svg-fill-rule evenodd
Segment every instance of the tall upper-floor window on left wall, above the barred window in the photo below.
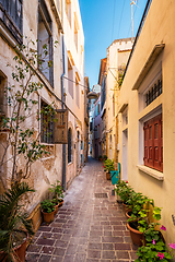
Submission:
M 52 67 L 48 67 L 49 61 L 52 62 L 51 20 L 44 0 L 39 0 L 38 4 L 38 53 L 42 60 L 39 70 L 52 85 Z

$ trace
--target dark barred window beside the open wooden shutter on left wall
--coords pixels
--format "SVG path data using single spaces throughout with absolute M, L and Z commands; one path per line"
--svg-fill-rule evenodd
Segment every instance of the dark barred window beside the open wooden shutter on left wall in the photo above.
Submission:
M 45 102 L 40 102 L 40 110 L 47 110 L 47 104 Z M 54 129 L 55 129 L 55 122 L 54 116 L 50 116 L 50 114 L 40 115 L 40 142 L 47 143 L 47 144 L 54 144 Z

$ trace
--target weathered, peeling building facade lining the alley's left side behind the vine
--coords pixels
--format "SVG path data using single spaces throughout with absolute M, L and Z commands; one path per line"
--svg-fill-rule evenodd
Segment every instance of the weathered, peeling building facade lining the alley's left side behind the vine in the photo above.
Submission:
M 21 50 L 15 51 L 16 45 L 28 47 L 33 53 L 40 55 L 43 66 L 35 63 L 35 59 L 31 60 L 24 52 L 20 52 Z M 42 57 L 43 49 L 45 57 Z M 42 133 L 38 142 L 46 145 L 49 152 L 31 166 L 31 176 L 26 180 L 36 190 L 26 206 L 28 214 L 32 214 L 37 212 L 50 184 L 59 180 L 66 190 L 86 159 L 88 112 L 84 103 L 89 84 L 88 80 L 84 80 L 84 35 L 79 1 L 34 0 L 31 4 L 21 0 L 0 0 L 0 109 L 2 115 L 9 117 L 11 111 L 3 92 L 7 86 L 14 86 L 18 92 L 20 84 L 25 82 L 14 81 L 15 76 L 12 74 L 16 68 L 13 59 L 16 53 L 34 72 L 31 86 L 34 83 L 43 86 L 32 95 L 37 104 L 32 106 L 31 120 L 26 120 L 24 126 L 33 128 L 36 135 Z M 47 67 L 49 62 L 51 67 Z M 66 143 L 56 142 L 58 132 L 55 127 L 59 128 L 58 124 L 49 124 L 47 128 L 50 135 L 45 133 L 42 110 L 48 105 L 52 105 L 55 110 L 66 110 L 68 114 L 68 131 L 65 129 L 66 133 L 62 133 Z M 36 121 L 37 114 L 39 121 Z M 0 142 L 2 159 L 3 143 L 7 142 L 5 130 L 1 130 Z M 13 153 L 9 150 L 8 154 L 10 156 Z M 10 163 L 0 168 L 0 193 L 3 193 L 8 186 L 10 168 Z M 23 172 L 22 159 L 19 160 L 18 168 Z M 36 219 L 35 228 L 39 222 L 40 217 Z

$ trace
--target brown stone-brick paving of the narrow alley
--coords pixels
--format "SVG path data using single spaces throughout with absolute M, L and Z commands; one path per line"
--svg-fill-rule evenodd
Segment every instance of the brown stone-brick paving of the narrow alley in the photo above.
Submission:
M 39 227 L 27 248 L 26 261 L 135 261 L 137 248 L 131 242 L 126 216 L 112 195 L 112 189 L 114 186 L 106 180 L 102 163 L 89 158 L 67 191 L 55 221 Z M 107 193 L 107 198 L 96 193 Z

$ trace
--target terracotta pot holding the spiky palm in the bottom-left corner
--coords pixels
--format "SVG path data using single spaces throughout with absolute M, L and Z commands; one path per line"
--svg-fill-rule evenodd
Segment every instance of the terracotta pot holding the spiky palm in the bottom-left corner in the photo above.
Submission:
M 28 234 L 27 233 L 25 233 L 25 234 L 26 234 L 26 239 L 18 248 L 14 248 L 14 255 L 13 255 L 14 262 L 25 262 L 26 243 L 28 240 Z M 5 254 L 1 251 L 0 252 L 0 261 L 2 261 L 2 262 L 7 261 L 7 257 L 4 257 L 4 255 Z

